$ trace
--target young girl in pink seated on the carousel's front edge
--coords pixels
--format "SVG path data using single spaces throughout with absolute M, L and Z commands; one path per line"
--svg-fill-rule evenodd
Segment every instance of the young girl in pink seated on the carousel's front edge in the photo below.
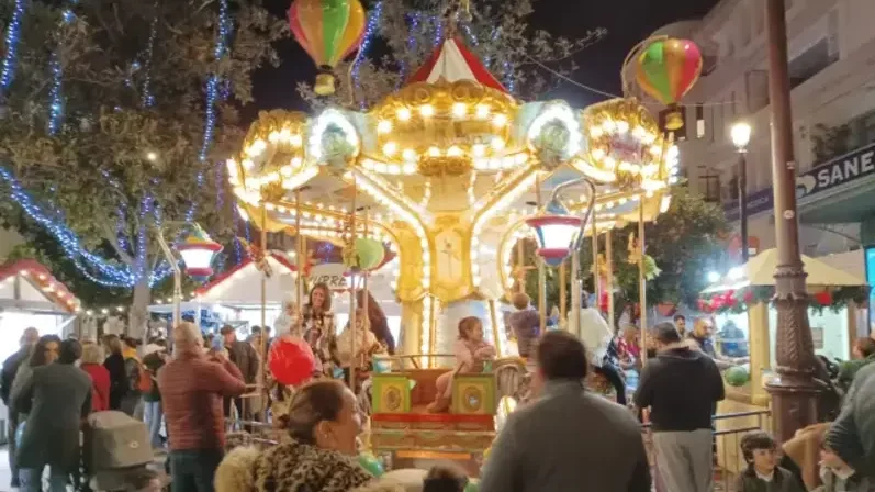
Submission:
M 459 372 L 482 372 L 484 362 L 495 358 L 495 347 L 483 339 L 483 323 L 476 316 L 468 316 L 459 322 L 459 339 L 453 345 L 456 368 L 440 374 L 435 382 L 437 394 L 428 405 L 431 413 L 449 410 L 452 398 L 452 379 Z

